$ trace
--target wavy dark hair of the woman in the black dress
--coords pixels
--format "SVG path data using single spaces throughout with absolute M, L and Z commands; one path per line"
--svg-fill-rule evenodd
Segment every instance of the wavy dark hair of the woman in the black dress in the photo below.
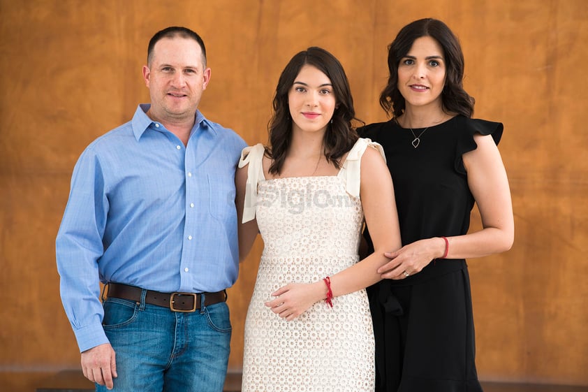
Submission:
M 380 94 L 380 106 L 392 117 L 399 117 L 406 108 L 404 96 L 398 90 L 398 66 L 411 50 L 417 38 L 429 36 L 441 45 L 446 62 L 446 79 L 441 102 L 443 111 L 455 112 L 466 117 L 473 115 L 475 100 L 463 87 L 464 54 L 460 41 L 449 27 L 436 19 L 420 19 L 404 26 L 394 41 L 388 45 L 388 85 Z

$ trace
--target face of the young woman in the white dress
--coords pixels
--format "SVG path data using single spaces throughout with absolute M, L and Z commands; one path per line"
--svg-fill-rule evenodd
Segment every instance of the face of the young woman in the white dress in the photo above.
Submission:
M 324 133 L 335 105 L 335 92 L 327 75 L 314 66 L 300 68 L 288 92 L 293 131 Z

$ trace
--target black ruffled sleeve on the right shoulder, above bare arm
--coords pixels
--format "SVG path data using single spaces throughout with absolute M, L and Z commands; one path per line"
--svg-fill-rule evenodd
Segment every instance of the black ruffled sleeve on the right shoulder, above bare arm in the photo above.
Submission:
M 502 138 L 502 131 L 504 130 L 504 126 L 501 122 L 492 122 L 485 119 L 470 119 L 463 116 L 458 116 L 458 119 L 460 120 L 458 126 L 460 129 L 462 129 L 462 132 L 460 133 L 459 139 L 457 140 L 455 170 L 458 173 L 466 174 L 466 168 L 464 166 L 462 155 L 478 148 L 478 145 L 473 140 L 473 136 L 476 133 L 480 133 L 480 135 L 483 136 L 492 135 L 494 143 L 498 145 L 498 143 L 500 143 L 500 139 Z

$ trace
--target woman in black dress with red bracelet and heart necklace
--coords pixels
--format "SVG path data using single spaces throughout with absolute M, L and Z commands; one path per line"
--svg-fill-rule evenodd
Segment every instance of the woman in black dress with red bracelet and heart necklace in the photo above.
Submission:
M 503 126 L 471 118 L 460 43 L 443 22 L 401 29 L 388 68 L 380 103 L 392 119 L 360 129 L 384 148 L 403 245 L 369 289 L 376 391 L 482 391 L 465 259 L 513 244 Z M 468 233 L 473 203 L 483 229 Z

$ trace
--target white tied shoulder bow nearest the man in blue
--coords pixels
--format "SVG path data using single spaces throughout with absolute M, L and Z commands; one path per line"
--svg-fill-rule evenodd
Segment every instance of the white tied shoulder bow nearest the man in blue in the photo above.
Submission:
M 241 152 L 239 167 L 247 167 L 247 183 L 245 184 L 245 202 L 243 206 L 242 223 L 246 223 L 255 218 L 255 209 L 257 205 L 257 185 L 260 180 L 264 179 L 263 154 L 265 147 L 262 144 L 256 144 L 251 147 L 245 147 Z

